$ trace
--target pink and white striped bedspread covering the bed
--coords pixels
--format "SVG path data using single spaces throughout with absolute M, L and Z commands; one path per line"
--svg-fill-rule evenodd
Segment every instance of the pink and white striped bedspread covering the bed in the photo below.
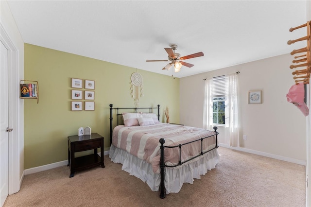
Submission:
M 157 123 L 147 126 L 116 126 L 113 130 L 112 144 L 127 151 L 138 158 L 151 163 L 154 173 L 160 173 L 160 143 L 164 138 L 164 146 L 184 144 L 200 138 L 203 140 L 203 152 L 215 147 L 215 132 L 206 129 L 182 126 L 176 124 Z M 181 148 L 181 161 L 185 161 L 201 153 L 201 141 L 183 145 Z M 176 165 L 179 161 L 179 148 L 165 148 L 165 164 Z

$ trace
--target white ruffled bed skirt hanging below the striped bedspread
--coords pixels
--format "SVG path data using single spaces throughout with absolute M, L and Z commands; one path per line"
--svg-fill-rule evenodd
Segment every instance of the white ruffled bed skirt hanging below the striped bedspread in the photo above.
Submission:
M 140 178 L 146 182 L 151 190 L 158 191 L 160 187 L 160 174 L 155 174 L 151 164 L 145 160 L 131 155 L 130 153 L 110 146 L 109 157 L 114 163 L 121 163 L 122 170 Z M 214 169 L 219 160 L 217 149 L 199 156 L 181 166 L 175 168 L 165 167 L 165 189 L 166 194 L 170 192 L 179 192 L 183 183 L 192 184 L 194 178 L 200 179 L 207 170 Z

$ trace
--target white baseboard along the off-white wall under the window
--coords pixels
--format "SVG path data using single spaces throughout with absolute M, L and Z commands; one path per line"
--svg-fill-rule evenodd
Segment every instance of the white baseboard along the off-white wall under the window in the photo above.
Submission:
M 222 143 L 219 143 L 219 146 L 230 148 L 230 149 L 233 149 L 233 150 L 238 150 L 238 151 L 246 152 L 246 153 L 251 153 L 251 154 L 255 154 L 255 155 L 266 156 L 266 157 L 270 157 L 270 158 L 274 158 L 274 159 L 278 159 L 278 160 L 282 160 L 282 161 L 286 161 L 286 162 L 292 162 L 292 163 L 299 164 L 299 165 L 304 165 L 304 166 L 306 166 L 306 163 L 307 163 L 305 160 L 294 159 L 294 158 L 291 158 L 291 157 L 264 153 L 264 152 L 260 152 L 260 151 L 256 151 L 256 150 L 251 150 L 251 149 L 247 149 L 247 148 L 242 148 L 242 147 L 230 147 L 230 146 L 228 146 L 226 144 L 222 144 Z

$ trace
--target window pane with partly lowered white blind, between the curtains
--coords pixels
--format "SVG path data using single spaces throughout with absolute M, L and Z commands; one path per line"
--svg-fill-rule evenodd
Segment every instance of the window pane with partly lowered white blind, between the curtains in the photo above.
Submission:
M 213 78 L 213 123 L 225 124 L 225 76 Z

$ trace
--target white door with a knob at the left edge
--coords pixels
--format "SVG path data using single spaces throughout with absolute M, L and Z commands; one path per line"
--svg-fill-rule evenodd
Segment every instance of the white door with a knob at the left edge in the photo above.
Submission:
M 0 41 L 0 206 L 9 194 L 8 50 Z

